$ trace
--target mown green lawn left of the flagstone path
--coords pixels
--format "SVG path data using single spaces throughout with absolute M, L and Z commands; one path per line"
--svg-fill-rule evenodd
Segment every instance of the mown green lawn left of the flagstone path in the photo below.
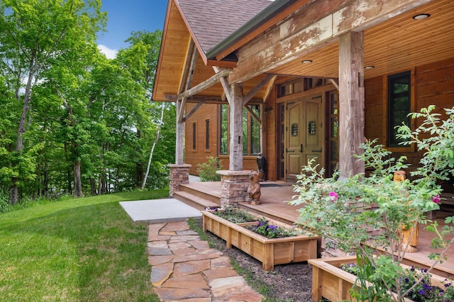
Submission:
M 133 223 L 118 201 L 165 196 L 133 191 L 0 214 L 0 300 L 159 301 L 148 225 Z

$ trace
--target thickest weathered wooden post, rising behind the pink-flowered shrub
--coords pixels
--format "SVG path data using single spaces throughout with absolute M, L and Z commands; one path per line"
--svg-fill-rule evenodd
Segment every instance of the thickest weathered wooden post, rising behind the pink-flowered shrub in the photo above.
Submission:
M 364 32 L 339 37 L 339 168 L 340 178 L 364 173 Z

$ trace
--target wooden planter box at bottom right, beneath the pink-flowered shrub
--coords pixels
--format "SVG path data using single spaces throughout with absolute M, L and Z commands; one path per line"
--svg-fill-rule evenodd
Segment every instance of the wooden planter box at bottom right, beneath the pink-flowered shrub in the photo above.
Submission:
M 356 276 L 339 268 L 342 264 L 356 263 L 356 256 L 309 259 L 308 262 L 312 265 L 312 298 L 314 301 L 321 301 L 322 298 L 332 302 L 356 301 L 352 300 L 350 296 L 350 289 L 355 284 Z M 402 266 L 404 265 L 402 264 Z M 432 274 L 433 286 L 443 289 L 443 280 L 443 277 Z M 411 302 L 412 300 L 404 298 L 404 301 Z

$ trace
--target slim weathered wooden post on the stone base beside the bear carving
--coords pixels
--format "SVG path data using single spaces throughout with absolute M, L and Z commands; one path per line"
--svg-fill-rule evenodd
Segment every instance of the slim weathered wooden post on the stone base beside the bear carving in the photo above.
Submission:
M 230 164 L 231 171 L 243 170 L 243 84 L 231 84 Z

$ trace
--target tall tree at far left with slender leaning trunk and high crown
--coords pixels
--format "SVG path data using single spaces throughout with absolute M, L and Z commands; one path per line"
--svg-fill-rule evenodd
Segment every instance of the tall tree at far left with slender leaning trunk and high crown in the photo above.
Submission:
M 96 33 L 105 24 L 106 13 L 100 9 L 101 0 L 0 1 L 0 72 L 21 104 L 16 143 L 10 152 L 15 157 L 9 173 L 11 203 L 18 201 L 23 177 L 18 162 L 33 162 L 33 157 L 24 158 L 23 153 L 32 88 L 52 65 L 64 65 L 94 45 Z

